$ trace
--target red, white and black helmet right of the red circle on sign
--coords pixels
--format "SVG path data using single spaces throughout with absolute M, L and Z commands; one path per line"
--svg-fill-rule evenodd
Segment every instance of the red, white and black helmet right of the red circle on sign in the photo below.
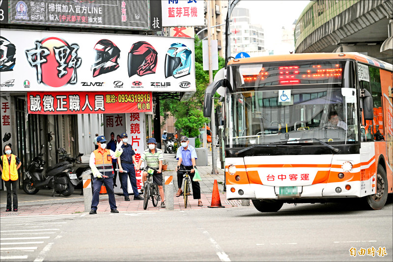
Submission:
M 93 78 L 119 68 L 120 49 L 108 39 L 101 39 L 94 46 L 95 62 L 91 66 Z

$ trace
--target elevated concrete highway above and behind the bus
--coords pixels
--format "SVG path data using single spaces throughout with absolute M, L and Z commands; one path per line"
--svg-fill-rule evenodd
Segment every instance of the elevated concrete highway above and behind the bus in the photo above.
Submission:
M 295 27 L 295 52 L 361 52 L 392 63 L 392 34 L 392 0 L 310 1 Z

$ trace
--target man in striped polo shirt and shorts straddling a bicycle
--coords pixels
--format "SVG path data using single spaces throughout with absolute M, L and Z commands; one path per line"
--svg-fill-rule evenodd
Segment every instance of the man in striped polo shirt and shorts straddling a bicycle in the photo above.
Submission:
M 147 180 L 147 171 L 148 169 L 154 170 L 153 175 L 153 183 L 158 185 L 158 190 L 160 191 L 161 196 L 161 207 L 165 208 L 165 200 L 164 200 L 164 188 L 163 188 L 163 175 L 162 175 L 162 166 L 164 160 L 164 154 L 161 149 L 157 148 L 156 139 L 151 137 L 147 141 L 148 149 L 143 151 L 142 156 L 140 157 L 137 170 L 140 169 L 140 165 L 142 162 L 145 162 L 145 169 L 142 175 L 142 184 L 144 185 Z M 143 192 L 144 187 L 140 191 Z

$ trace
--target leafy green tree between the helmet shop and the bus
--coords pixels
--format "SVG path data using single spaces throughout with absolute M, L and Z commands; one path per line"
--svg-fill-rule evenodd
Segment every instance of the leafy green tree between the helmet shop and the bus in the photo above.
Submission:
M 182 131 L 182 134 L 189 137 L 199 135 L 199 128 L 202 128 L 204 123 L 209 123 L 209 119 L 203 117 L 203 98 L 205 89 L 209 84 L 209 72 L 203 70 L 203 54 L 202 41 L 195 37 L 195 77 L 196 89 L 194 96 L 186 101 L 180 102 L 176 99 L 160 100 L 160 113 L 164 117 L 164 122 L 169 115 L 175 117 L 175 127 Z M 219 69 L 225 66 L 225 59 L 219 56 Z M 218 70 L 213 71 L 213 77 Z M 196 139 L 196 146 L 200 144 L 199 139 Z

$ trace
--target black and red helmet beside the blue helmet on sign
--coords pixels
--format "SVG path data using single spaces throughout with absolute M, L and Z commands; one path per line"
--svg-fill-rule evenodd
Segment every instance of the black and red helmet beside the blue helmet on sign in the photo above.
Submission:
M 136 42 L 128 53 L 128 77 L 155 74 L 157 51 L 147 42 Z

